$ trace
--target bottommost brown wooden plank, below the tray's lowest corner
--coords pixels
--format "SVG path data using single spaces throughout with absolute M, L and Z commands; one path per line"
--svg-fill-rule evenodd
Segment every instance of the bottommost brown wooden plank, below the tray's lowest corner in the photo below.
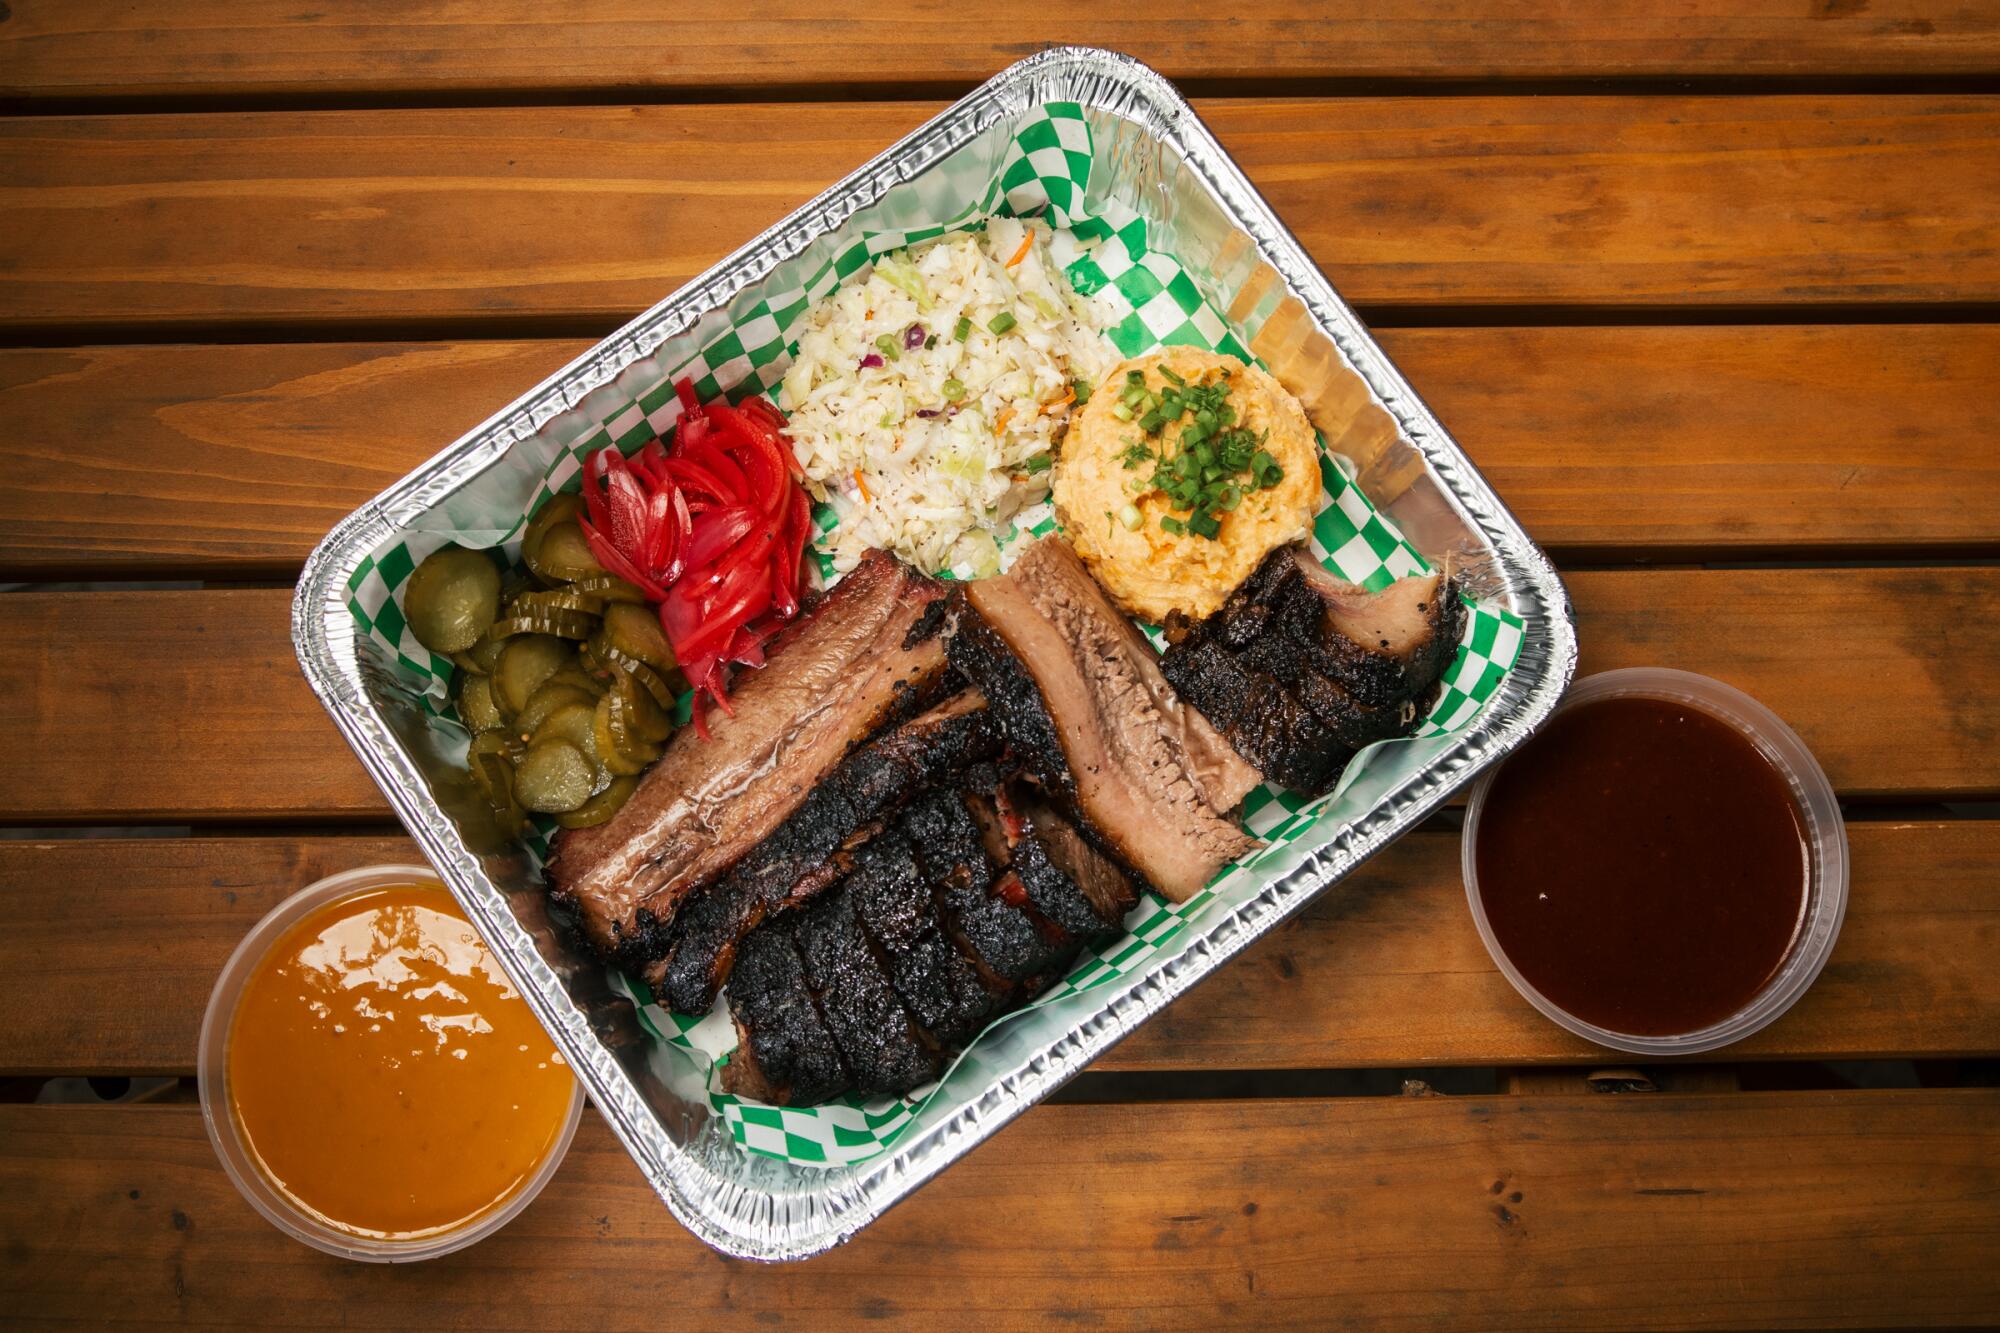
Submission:
M 506 1231 L 404 1271 L 264 1223 L 194 1107 L 0 1107 L 0 1293 L 204 1327 L 1972 1325 L 1996 1163 L 1996 1091 L 1044 1107 L 764 1267 L 680 1231 L 590 1115 Z

